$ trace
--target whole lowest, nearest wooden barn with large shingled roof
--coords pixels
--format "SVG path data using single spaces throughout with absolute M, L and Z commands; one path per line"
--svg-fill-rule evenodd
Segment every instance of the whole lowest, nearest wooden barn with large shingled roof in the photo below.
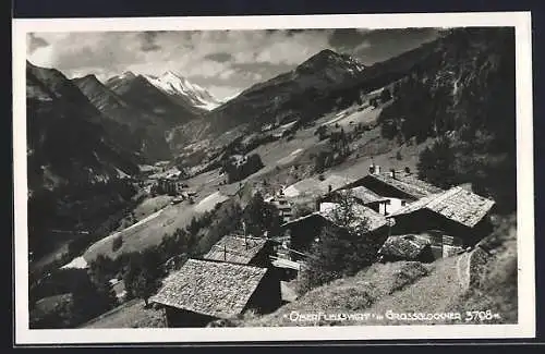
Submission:
M 270 269 L 189 259 L 149 301 L 164 308 L 168 327 L 205 327 L 250 309 L 270 313 L 280 306 L 281 294 Z

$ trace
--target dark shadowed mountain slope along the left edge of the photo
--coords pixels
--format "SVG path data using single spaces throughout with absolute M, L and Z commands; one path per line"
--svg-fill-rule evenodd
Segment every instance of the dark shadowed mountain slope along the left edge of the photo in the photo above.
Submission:
M 123 176 L 138 158 L 112 136 L 122 126 L 105 118 L 63 74 L 27 62 L 27 161 L 31 248 L 55 246 L 47 230 L 73 230 L 107 217 L 131 197 Z

